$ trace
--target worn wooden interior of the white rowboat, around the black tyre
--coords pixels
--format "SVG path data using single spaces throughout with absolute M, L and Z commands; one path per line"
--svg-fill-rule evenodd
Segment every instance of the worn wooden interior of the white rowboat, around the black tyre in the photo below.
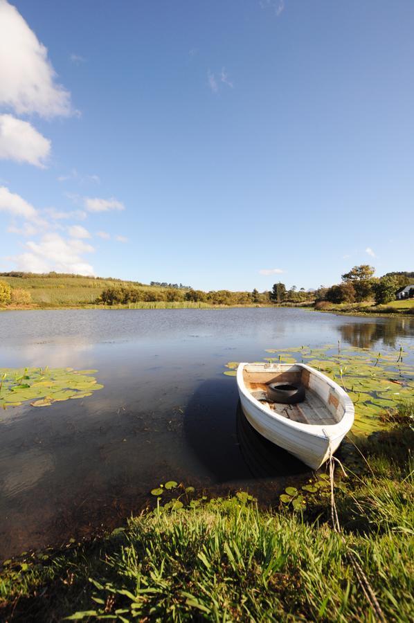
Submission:
M 291 419 L 300 424 L 330 425 L 337 424 L 343 417 L 344 409 L 334 388 L 330 388 L 312 372 L 292 365 L 289 369 L 278 370 L 278 365 L 255 366 L 246 365 L 243 370 L 244 386 L 260 401 L 264 408 L 272 413 Z M 297 404 L 271 402 L 267 397 L 268 383 L 286 383 L 287 385 L 305 387 L 305 400 Z

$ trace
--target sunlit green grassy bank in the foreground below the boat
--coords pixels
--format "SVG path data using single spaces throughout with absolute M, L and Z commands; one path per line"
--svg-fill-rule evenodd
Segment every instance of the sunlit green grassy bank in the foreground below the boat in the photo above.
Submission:
M 6 561 L 0 616 L 374 621 L 354 552 L 386 620 L 410 621 L 414 434 L 407 413 L 370 437 L 366 460 L 336 480 L 342 534 L 330 523 L 329 487 L 307 494 L 304 512 L 282 503 L 259 509 L 247 494 L 208 501 L 177 488 L 169 503 L 162 496 L 161 509 L 105 538 Z

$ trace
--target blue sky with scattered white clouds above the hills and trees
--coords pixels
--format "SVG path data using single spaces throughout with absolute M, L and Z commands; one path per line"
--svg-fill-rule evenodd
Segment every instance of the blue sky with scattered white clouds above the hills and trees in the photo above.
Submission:
M 413 32 L 408 0 L 0 0 L 0 271 L 413 270 Z

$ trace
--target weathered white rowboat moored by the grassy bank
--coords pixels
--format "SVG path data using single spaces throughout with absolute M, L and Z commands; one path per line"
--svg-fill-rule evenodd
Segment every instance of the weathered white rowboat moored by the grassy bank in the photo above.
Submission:
M 301 383 L 305 400 L 298 404 L 261 402 L 253 393 L 266 391 L 267 383 Z M 334 453 L 354 422 L 348 394 L 304 363 L 240 363 L 237 387 L 243 413 L 253 428 L 312 469 L 321 467 Z

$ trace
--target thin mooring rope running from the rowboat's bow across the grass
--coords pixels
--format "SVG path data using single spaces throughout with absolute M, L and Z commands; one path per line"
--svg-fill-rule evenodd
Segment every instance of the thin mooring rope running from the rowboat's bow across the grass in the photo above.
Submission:
M 341 467 L 343 471 L 343 474 L 345 476 L 347 474 L 345 472 L 345 469 L 343 468 L 343 464 L 341 463 L 341 461 L 338 458 L 334 457 L 334 455 L 332 454 L 332 443 L 331 443 L 330 436 L 328 435 L 327 431 L 325 431 L 325 428 L 323 428 L 322 431 L 324 435 L 327 437 L 327 441 L 328 441 L 332 527 L 334 528 L 334 532 L 339 534 L 339 536 L 341 537 L 341 541 L 343 542 L 343 545 L 345 545 L 346 547 L 347 543 L 345 541 L 345 537 L 343 536 L 343 532 L 341 529 L 341 524 L 339 523 L 338 512 L 336 510 L 336 504 L 335 504 L 335 496 L 334 496 L 335 462 L 339 464 L 339 466 Z M 384 613 L 381 609 L 381 606 L 379 605 L 374 589 L 372 588 L 370 581 L 368 577 L 366 576 L 366 573 L 364 572 L 363 568 L 359 564 L 359 561 L 357 559 L 355 552 L 351 549 L 348 549 L 348 552 L 345 555 L 348 557 L 350 563 L 352 564 L 354 568 L 355 575 L 357 576 L 358 584 L 359 586 L 361 586 L 362 592 L 365 595 L 366 600 L 368 601 L 368 604 L 370 604 L 372 611 L 377 616 L 377 620 L 380 621 L 381 623 L 386 623 L 386 618 L 384 617 Z

